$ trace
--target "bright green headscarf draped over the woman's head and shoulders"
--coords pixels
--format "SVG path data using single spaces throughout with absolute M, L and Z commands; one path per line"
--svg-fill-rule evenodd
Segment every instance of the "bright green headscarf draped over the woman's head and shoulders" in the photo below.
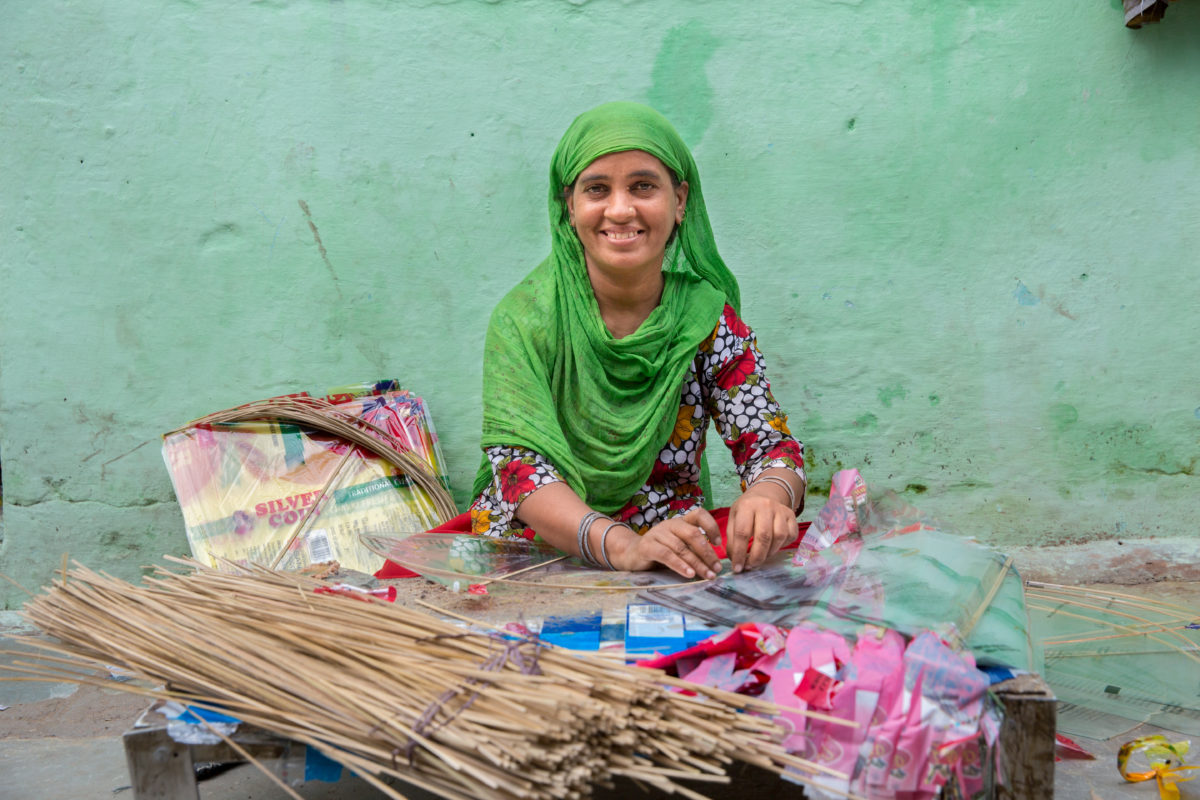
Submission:
M 564 187 L 610 152 L 643 150 L 688 181 L 667 247 L 662 300 L 630 336 L 600 318 Z M 671 124 L 638 103 L 606 103 L 575 119 L 550 167 L 550 255 L 496 307 L 484 355 L 481 445 L 518 445 L 551 461 L 598 511 L 619 510 L 646 483 L 676 425 L 697 348 L 738 283 L 716 252 L 700 173 Z M 487 488 L 485 456 L 475 494 Z

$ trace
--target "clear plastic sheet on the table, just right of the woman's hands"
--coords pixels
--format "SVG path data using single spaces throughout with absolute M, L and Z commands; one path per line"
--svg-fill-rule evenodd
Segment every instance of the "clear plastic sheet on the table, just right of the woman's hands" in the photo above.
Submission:
M 910 637 L 935 630 L 980 663 L 1034 669 L 1021 582 L 1006 557 L 917 515 L 886 499 L 868 512 L 862 535 L 808 554 L 803 566 L 784 554 L 757 570 L 642 596 L 727 626 L 808 621 L 853 634 L 871 624 Z

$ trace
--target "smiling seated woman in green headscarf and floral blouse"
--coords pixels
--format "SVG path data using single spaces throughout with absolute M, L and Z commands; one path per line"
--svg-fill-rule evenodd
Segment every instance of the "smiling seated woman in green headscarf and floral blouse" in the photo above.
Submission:
M 473 531 L 528 527 L 608 569 L 715 577 L 701 489 L 713 419 L 744 489 L 726 527 L 733 571 L 762 564 L 797 536 L 803 449 L 738 318 L 686 145 L 636 103 L 580 115 L 551 163 L 550 223 L 550 257 L 487 330 Z

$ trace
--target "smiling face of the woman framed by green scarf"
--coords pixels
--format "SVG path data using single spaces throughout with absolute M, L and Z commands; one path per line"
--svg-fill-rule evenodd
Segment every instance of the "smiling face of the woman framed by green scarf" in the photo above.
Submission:
M 589 272 L 601 270 L 614 281 L 662 269 L 686 204 L 688 184 L 674 186 L 666 166 L 643 150 L 596 158 L 566 196 Z

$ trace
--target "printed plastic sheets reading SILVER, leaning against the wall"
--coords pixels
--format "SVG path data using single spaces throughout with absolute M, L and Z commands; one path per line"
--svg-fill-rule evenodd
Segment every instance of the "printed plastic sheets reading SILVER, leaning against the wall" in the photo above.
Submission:
M 394 381 L 342 387 L 340 408 L 407 443 L 445 485 L 424 402 L 404 391 L 370 393 L 380 385 Z M 163 459 L 192 554 L 214 567 L 222 559 L 271 565 L 287 546 L 277 569 L 336 560 L 374 572 L 383 561 L 360 534 L 427 530 L 442 522 L 430 497 L 396 467 L 301 426 L 198 425 L 164 437 Z

